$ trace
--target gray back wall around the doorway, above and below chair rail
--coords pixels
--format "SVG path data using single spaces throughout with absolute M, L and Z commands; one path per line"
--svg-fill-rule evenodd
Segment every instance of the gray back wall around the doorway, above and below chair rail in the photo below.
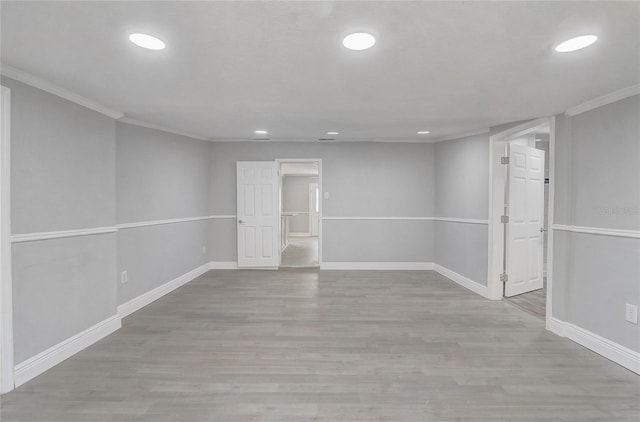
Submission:
M 324 217 L 431 217 L 434 147 L 407 143 L 214 143 L 214 214 L 236 213 L 236 161 L 322 159 Z M 215 223 L 214 261 L 235 261 L 235 220 Z M 433 222 L 324 220 L 323 260 L 432 262 Z

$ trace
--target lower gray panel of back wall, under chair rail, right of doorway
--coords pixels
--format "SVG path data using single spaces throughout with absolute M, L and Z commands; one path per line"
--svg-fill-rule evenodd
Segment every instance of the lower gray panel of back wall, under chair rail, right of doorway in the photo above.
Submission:
M 324 262 L 433 262 L 429 220 L 324 220 Z

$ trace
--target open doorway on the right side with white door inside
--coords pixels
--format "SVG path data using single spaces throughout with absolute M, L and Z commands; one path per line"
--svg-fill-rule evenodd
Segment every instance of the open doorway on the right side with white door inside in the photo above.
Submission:
M 550 314 L 553 124 L 491 137 L 490 296 L 541 318 Z

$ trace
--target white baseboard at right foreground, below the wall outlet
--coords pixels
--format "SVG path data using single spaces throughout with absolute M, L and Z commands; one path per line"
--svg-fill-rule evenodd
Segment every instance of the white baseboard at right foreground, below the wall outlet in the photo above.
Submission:
M 640 374 L 640 353 L 618 343 L 556 318 L 547 320 L 547 329 L 592 350 L 630 371 Z

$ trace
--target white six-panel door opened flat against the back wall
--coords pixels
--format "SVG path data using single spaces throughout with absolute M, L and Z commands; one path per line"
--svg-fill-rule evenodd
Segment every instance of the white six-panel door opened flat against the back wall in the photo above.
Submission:
M 237 162 L 238 267 L 280 265 L 275 161 Z

